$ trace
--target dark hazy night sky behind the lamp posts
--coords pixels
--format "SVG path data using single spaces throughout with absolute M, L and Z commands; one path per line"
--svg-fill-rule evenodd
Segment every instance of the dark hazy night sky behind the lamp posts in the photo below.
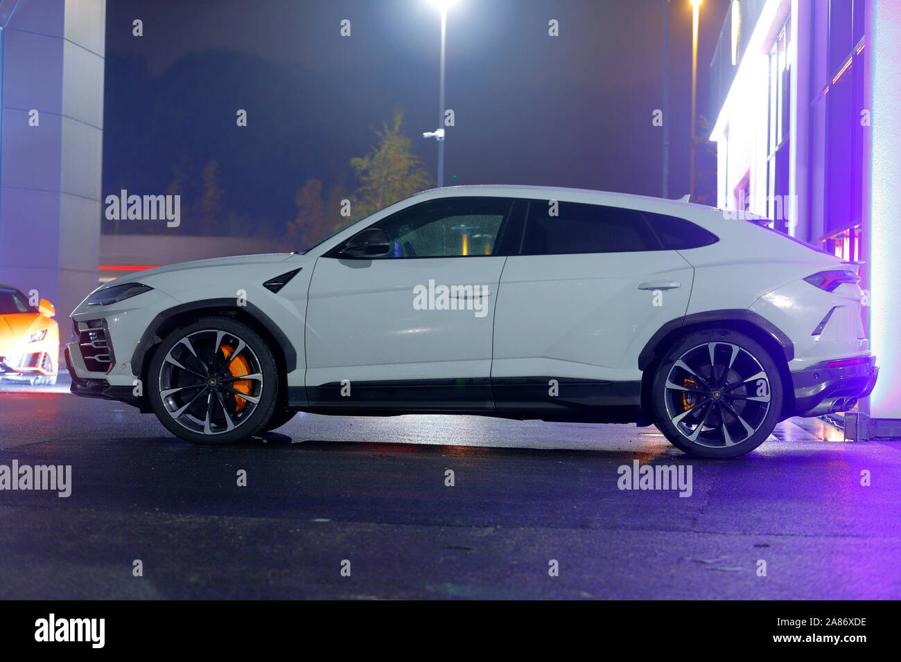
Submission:
M 701 5 L 698 113 L 727 0 Z M 672 0 L 669 196 L 688 189 L 691 5 Z M 448 14 L 445 184 L 661 194 L 664 0 L 459 0 Z M 132 21 L 143 36 L 132 36 Z M 351 36 L 340 22 L 350 19 Z M 548 21 L 560 36 L 548 35 Z M 432 177 L 439 12 L 428 0 L 110 0 L 103 194 L 164 193 L 219 162 L 223 205 L 278 234 L 309 177 L 348 166 L 398 108 Z M 235 125 L 238 108 L 248 126 Z M 711 118 L 713 119 L 713 118 Z M 105 230 L 109 230 L 105 226 Z M 123 230 L 126 231 L 126 230 Z M 226 230 L 227 231 L 227 230 Z M 223 231 L 225 233 L 225 231 Z

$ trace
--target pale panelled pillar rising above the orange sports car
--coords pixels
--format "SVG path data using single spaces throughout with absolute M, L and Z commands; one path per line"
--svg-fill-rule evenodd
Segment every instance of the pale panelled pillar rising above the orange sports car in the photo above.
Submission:
M 105 23 L 105 0 L 0 12 L 0 282 L 50 300 L 63 342 L 96 286 Z

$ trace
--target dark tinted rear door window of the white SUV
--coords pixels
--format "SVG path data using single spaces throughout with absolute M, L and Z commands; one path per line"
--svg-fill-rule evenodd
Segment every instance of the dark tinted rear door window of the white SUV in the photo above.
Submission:
M 557 210 L 558 215 L 551 216 L 547 200 L 530 201 L 522 255 L 660 250 L 640 212 L 566 202 Z

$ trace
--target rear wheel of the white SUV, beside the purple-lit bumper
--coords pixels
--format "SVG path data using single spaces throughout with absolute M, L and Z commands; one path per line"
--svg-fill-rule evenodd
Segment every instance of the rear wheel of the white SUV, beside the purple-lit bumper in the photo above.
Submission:
M 778 365 L 759 342 L 714 328 L 669 349 L 651 399 L 657 427 L 673 446 L 700 458 L 737 458 L 769 438 L 783 393 Z

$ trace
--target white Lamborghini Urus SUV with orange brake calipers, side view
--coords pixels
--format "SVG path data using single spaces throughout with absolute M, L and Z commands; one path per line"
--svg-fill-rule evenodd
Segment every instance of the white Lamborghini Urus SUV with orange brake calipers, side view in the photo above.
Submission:
M 106 283 L 65 357 L 73 393 L 198 443 L 296 412 L 459 413 L 655 424 L 733 458 L 872 390 L 857 272 L 697 204 L 455 186 L 303 253 Z

